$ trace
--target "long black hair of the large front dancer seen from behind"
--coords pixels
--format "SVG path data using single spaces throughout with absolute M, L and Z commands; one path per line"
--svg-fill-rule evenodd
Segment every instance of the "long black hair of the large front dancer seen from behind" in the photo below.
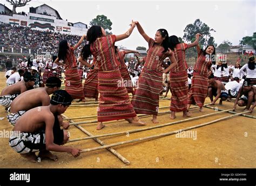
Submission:
M 80 54 L 80 56 L 82 56 L 84 60 L 87 60 L 87 58 L 91 55 L 90 46 L 92 42 L 96 41 L 96 39 L 100 37 L 102 37 L 102 27 L 98 25 L 93 25 L 92 27 L 89 28 L 86 34 L 87 43 L 83 47 Z

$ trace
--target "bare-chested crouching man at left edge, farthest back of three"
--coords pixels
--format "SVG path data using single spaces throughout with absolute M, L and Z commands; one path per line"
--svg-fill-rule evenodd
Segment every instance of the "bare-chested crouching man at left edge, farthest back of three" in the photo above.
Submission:
M 5 87 L 1 92 L 0 104 L 4 106 L 6 109 L 10 107 L 11 102 L 23 92 L 33 89 L 33 85 L 35 84 L 35 78 L 31 75 L 31 73 L 26 72 L 23 75 L 23 80 L 19 81 L 15 84 L 12 84 L 8 87 Z

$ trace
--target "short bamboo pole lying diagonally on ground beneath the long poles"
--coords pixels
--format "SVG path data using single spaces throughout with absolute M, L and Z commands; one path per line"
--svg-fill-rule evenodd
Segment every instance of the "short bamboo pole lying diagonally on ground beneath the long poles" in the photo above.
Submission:
M 63 115 L 62 114 L 62 117 L 63 118 L 68 118 L 68 117 L 66 117 L 65 115 Z M 69 120 L 70 121 L 70 123 L 73 123 L 74 121 L 72 121 L 72 120 Z M 93 134 L 91 134 L 89 131 L 86 131 L 83 127 L 81 127 L 81 126 L 78 126 L 78 125 L 75 125 L 77 128 L 79 128 L 82 132 L 84 132 L 85 134 L 87 134 L 87 135 L 89 135 L 90 137 L 91 136 L 93 136 Z M 100 145 L 102 145 L 102 146 L 104 146 L 105 145 L 105 143 L 102 141 L 102 140 L 100 140 L 100 139 L 98 139 L 98 138 L 93 138 L 93 140 L 95 140 L 98 144 L 100 144 Z M 110 151 L 112 154 L 114 154 L 115 156 L 117 156 L 117 158 L 119 159 L 119 160 L 121 160 L 121 161 L 123 161 L 125 164 L 130 164 L 130 161 L 129 160 L 127 160 L 126 158 L 124 158 L 120 153 L 118 153 L 116 150 L 114 150 L 113 148 L 107 148 L 107 150 L 108 151 Z

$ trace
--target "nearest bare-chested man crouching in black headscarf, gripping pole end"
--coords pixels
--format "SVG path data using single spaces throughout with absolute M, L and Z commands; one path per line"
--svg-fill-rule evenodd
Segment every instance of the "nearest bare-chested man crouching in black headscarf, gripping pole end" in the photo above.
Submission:
M 9 145 L 23 158 L 36 162 L 36 151 L 39 158 L 50 158 L 57 161 L 57 156 L 50 153 L 68 152 L 75 158 L 79 156 L 80 149 L 65 144 L 69 139 L 67 131 L 61 130 L 63 120 L 59 118 L 68 109 L 72 97 L 65 90 L 57 90 L 53 93 L 48 106 L 33 108 L 17 121 L 13 133 L 9 139 Z M 69 125 L 63 126 L 65 129 Z

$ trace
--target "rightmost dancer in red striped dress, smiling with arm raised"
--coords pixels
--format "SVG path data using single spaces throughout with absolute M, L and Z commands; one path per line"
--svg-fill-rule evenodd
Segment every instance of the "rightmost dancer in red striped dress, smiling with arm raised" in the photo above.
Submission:
M 192 78 L 192 85 L 190 94 L 188 95 L 187 110 L 190 109 L 190 105 L 196 103 L 199 106 L 199 111 L 203 112 L 203 105 L 208 91 L 208 69 L 211 68 L 212 62 L 215 60 L 215 47 L 209 45 L 203 51 L 199 45 L 197 45 L 197 62 L 194 66 L 194 74 Z

